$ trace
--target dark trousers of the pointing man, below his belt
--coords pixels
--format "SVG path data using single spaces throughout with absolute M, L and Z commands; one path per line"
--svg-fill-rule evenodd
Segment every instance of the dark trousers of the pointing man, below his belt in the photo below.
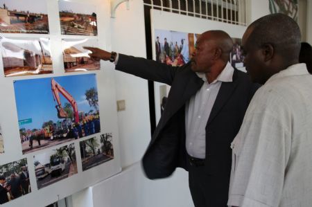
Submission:
M 216 195 L 211 195 L 210 176 L 205 172 L 205 165 L 191 164 L 189 166 L 189 189 L 194 205 L 196 207 L 227 207 L 226 199 L 216 201 Z

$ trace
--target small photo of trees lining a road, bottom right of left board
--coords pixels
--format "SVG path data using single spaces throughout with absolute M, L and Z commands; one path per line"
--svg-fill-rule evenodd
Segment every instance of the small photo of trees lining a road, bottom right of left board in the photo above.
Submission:
M 114 159 L 112 133 L 80 141 L 80 155 L 83 171 Z

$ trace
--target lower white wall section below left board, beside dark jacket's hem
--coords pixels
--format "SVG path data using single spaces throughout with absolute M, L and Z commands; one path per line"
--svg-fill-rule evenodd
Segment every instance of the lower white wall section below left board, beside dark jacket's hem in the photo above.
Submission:
M 151 181 L 140 163 L 92 187 L 94 207 L 191 207 L 188 176 L 179 169 L 172 177 Z

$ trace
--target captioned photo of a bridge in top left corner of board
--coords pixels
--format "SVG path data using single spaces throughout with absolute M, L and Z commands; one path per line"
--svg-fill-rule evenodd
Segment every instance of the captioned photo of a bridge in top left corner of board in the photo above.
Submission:
M 0 0 L 0 33 L 49 34 L 44 0 Z

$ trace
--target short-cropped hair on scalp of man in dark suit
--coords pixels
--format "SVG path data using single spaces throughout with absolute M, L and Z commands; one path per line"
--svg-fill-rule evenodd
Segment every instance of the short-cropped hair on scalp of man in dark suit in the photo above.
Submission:
M 223 30 L 209 30 L 200 35 L 205 41 L 212 40 L 216 47 L 220 48 L 222 51 L 221 58 L 223 61 L 229 61 L 229 53 L 231 53 L 233 48 L 233 40 L 225 31 Z

